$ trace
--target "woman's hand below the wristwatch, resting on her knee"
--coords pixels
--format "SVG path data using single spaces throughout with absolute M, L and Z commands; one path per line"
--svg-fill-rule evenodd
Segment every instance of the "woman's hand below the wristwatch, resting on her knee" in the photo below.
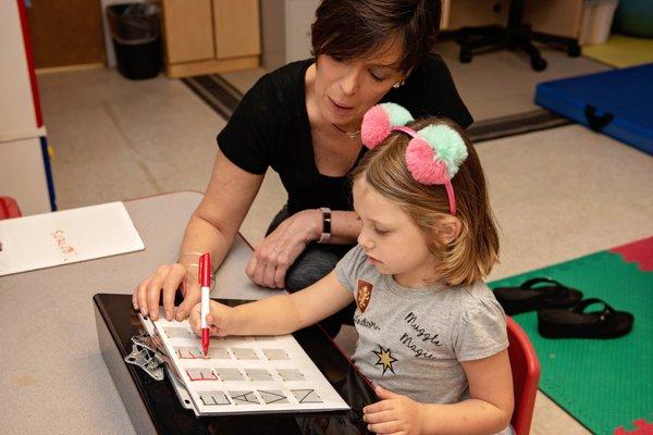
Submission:
M 288 268 L 319 237 L 322 215 L 318 210 L 304 210 L 283 221 L 257 247 L 245 272 L 263 287 L 284 288 Z

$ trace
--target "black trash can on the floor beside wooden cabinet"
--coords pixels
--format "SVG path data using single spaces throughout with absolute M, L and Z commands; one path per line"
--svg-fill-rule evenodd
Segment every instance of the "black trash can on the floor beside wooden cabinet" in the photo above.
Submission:
M 151 78 L 161 71 L 161 12 L 155 4 L 107 7 L 118 71 L 132 79 Z

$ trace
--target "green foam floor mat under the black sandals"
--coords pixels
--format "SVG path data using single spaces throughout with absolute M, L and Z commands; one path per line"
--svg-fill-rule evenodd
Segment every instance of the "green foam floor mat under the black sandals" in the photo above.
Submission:
M 613 339 L 543 338 L 535 312 L 515 315 L 540 359 L 540 389 L 596 434 L 632 427 L 639 419 L 651 421 L 653 273 L 604 251 L 495 281 L 490 287 L 517 287 L 537 276 L 556 279 L 581 290 L 583 299 L 601 298 L 615 310 L 634 315 L 632 331 Z

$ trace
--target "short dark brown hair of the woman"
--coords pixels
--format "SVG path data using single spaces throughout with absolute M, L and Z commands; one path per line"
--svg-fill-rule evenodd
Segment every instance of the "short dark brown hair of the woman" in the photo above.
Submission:
M 313 55 L 360 59 L 389 37 L 403 45 L 407 74 L 431 51 L 440 32 L 441 0 L 322 0 L 311 26 Z

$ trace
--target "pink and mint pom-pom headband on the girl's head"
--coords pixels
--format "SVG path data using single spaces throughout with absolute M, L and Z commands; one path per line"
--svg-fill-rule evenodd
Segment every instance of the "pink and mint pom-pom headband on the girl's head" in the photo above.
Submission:
M 467 147 L 458 132 L 448 125 L 429 125 L 420 130 L 407 127 L 414 121 L 410 112 L 392 102 L 377 104 L 367 111 L 360 126 L 362 144 L 369 149 L 381 144 L 392 132 L 411 137 L 406 148 L 406 166 L 416 182 L 444 185 L 449 212 L 456 215 L 456 196 L 452 178 L 467 159 Z

